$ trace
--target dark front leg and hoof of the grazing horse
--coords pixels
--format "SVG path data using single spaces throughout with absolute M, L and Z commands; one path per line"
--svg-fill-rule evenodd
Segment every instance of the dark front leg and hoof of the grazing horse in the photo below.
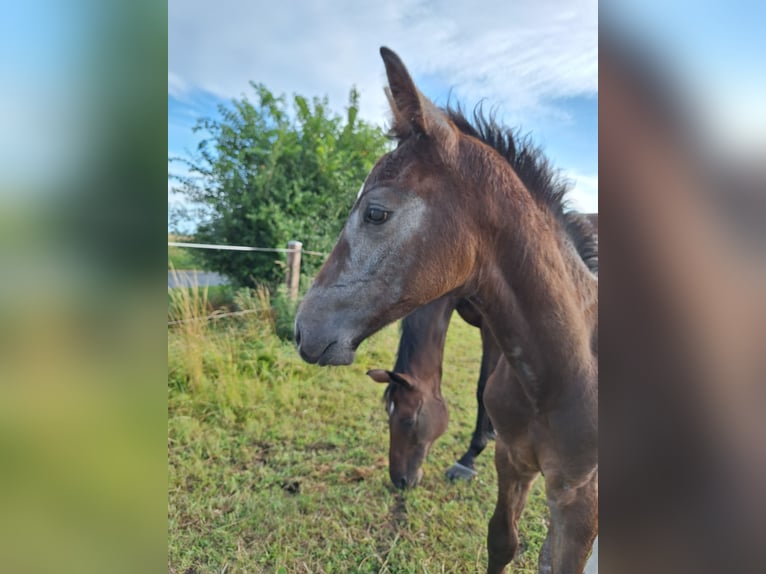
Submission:
M 476 428 L 473 431 L 471 444 L 466 453 L 447 470 L 447 478 L 450 480 L 470 480 L 476 476 L 474 461 L 486 448 L 489 439 L 494 438 L 492 421 L 489 420 L 487 409 L 484 408 L 484 388 L 487 385 L 487 378 L 489 378 L 490 373 L 494 370 L 500 358 L 500 349 L 492 334 L 487 332 L 486 329 L 481 330 L 481 343 L 481 369 L 479 370 L 479 382 L 476 387 L 476 402 L 478 405 Z

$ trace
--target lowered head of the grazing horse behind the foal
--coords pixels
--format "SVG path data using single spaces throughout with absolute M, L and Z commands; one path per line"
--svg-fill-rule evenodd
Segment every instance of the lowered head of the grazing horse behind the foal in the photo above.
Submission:
M 417 377 L 383 369 L 367 374 L 386 383 L 390 444 L 388 474 L 397 488 L 413 488 L 423 476 L 423 461 L 434 441 L 447 430 L 449 413 L 441 394 Z M 437 387 L 438 388 L 438 387 Z

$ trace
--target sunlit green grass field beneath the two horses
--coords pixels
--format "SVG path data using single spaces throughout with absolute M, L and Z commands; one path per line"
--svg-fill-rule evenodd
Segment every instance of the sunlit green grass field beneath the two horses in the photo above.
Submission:
M 173 318 L 206 314 L 204 292 L 176 291 Z M 238 304 L 253 312 L 168 329 L 168 571 L 483 572 L 494 444 L 473 482 L 444 478 L 473 429 L 478 331 L 453 319 L 450 426 L 420 486 L 401 493 L 388 478 L 383 385 L 364 374 L 393 365 L 398 327 L 354 365 L 320 368 L 274 335 L 264 293 Z M 538 480 L 514 572 L 537 571 L 547 512 Z

